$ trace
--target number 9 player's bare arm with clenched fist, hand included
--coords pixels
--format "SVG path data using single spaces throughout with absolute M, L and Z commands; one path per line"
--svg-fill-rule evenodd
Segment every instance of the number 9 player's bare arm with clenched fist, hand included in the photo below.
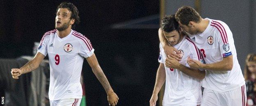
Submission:
M 12 68 L 11 69 L 12 78 L 18 79 L 20 75 L 29 73 L 34 69 L 38 68 L 39 64 L 42 62 L 44 57 L 45 56 L 42 53 L 38 52 L 32 60 L 27 62 L 27 64 L 25 64 L 21 68 Z

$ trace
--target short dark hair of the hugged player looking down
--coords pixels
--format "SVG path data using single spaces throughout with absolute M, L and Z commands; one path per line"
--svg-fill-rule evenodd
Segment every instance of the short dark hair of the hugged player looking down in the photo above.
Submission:
M 161 29 L 168 33 L 174 30 L 179 32 L 180 27 L 178 26 L 178 22 L 175 20 L 175 15 L 168 15 L 162 18 Z

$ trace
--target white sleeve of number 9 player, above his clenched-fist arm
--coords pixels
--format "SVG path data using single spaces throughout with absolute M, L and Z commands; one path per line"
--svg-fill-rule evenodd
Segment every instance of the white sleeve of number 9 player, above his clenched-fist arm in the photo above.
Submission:
M 45 33 L 40 41 L 39 47 L 37 49 L 37 52 L 42 53 L 44 56 L 47 55 L 47 42 L 48 42 L 48 36 L 50 33 Z

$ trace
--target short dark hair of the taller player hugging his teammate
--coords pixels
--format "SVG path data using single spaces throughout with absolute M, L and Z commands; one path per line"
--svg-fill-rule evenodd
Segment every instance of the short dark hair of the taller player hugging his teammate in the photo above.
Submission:
M 201 16 L 192 7 L 183 6 L 175 13 L 175 19 L 180 21 L 181 24 L 188 25 L 190 21 L 199 23 L 201 21 Z

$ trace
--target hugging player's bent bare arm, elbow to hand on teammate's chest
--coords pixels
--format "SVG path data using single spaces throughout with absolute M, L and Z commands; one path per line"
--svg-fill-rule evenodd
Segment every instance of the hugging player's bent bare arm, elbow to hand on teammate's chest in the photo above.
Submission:
M 224 57 L 222 61 L 213 64 L 202 64 L 201 62 L 193 59 L 188 59 L 187 63 L 192 68 L 206 69 L 211 71 L 231 71 L 233 68 L 233 55 Z

